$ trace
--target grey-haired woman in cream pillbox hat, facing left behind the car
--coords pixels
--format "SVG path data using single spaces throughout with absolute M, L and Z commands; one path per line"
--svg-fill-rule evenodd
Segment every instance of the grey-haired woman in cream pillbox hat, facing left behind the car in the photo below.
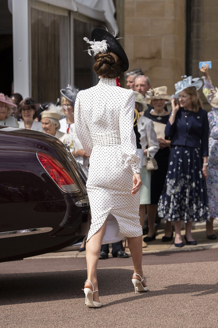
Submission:
M 41 113 L 41 116 L 42 116 L 41 122 L 42 122 L 43 132 L 54 135 L 60 141 L 66 143 L 67 133 L 58 131 L 60 128 L 59 119 L 61 117 L 60 109 L 58 108 L 58 106 L 55 105 L 49 106 L 48 110 L 43 111 Z

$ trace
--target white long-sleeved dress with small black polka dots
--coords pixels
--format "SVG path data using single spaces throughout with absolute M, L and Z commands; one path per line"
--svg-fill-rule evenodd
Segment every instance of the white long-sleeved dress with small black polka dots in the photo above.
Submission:
M 78 92 L 75 129 L 83 149 L 90 155 L 87 192 L 92 223 L 87 240 L 102 226 L 102 244 L 142 236 L 139 221 L 140 192 L 131 195 L 133 174 L 140 172 L 133 130 L 135 94 L 101 78 Z

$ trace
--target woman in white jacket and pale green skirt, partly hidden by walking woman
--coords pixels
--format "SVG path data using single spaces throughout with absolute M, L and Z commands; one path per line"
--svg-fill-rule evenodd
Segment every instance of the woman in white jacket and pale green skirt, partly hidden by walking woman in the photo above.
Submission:
M 144 112 L 147 109 L 147 104 L 143 100 L 143 95 L 135 91 L 135 104 L 136 110 L 138 112 Z M 140 207 L 139 207 L 139 216 L 140 223 L 142 227 L 144 226 L 145 220 L 145 205 L 151 203 L 151 172 L 146 169 L 146 156 L 147 152 L 152 157 L 155 157 L 155 154 L 159 150 L 158 139 L 154 130 L 154 124 L 152 120 L 145 116 L 140 116 L 138 121 L 138 131 L 141 134 L 140 143 L 143 149 L 143 166 L 141 168 L 141 177 L 143 185 L 140 189 Z M 150 222 L 149 222 L 150 227 Z M 145 244 L 144 244 L 145 243 Z M 146 241 L 143 240 L 143 247 L 145 247 Z

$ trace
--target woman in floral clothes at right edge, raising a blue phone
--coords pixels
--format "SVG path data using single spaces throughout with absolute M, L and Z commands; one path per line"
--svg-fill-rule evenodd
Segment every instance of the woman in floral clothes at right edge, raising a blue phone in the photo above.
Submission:
M 205 76 L 203 93 L 209 104 L 212 106 L 212 112 L 208 113 L 210 134 L 207 189 L 210 222 L 206 222 L 206 229 L 208 239 L 217 239 L 217 235 L 213 230 L 213 220 L 215 217 L 218 217 L 218 89 L 212 86 L 208 69 L 208 64 L 200 69 Z

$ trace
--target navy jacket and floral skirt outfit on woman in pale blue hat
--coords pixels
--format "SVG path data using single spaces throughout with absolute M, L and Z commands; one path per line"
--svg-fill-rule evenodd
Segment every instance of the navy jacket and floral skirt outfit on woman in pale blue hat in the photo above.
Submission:
M 202 174 L 203 156 L 208 155 L 208 129 L 207 113 L 202 109 L 193 113 L 180 108 L 175 123 L 167 123 L 165 133 L 172 137 L 172 146 L 158 214 L 168 221 L 210 221 Z

